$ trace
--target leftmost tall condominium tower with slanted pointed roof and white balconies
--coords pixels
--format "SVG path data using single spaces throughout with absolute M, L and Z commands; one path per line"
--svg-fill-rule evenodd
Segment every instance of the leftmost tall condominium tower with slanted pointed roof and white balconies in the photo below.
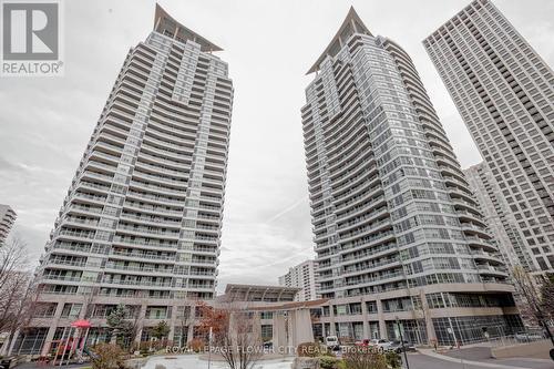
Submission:
M 105 339 L 117 304 L 145 327 L 143 340 L 161 319 L 178 339 L 189 334 L 173 327 L 183 305 L 214 296 L 233 103 L 218 50 L 156 6 L 154 30 L 125 59 L 41 258 L 45 319 L 28 336 L 47 344 L 34 350 L 48 351 L 76 317 L 92 319 L 90 340 Z

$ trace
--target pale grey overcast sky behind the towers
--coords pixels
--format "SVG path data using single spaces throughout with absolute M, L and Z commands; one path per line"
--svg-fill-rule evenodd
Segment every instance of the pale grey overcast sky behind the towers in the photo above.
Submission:
M 305 73 L 351 4 L 373 34 L 412 57 L 463 167 L 481 157 L 421 41 L 469 3 L 425 1 L 162 0 L 174 18 L 225 49 L 235 104 L 219 290 L 227 283 L 276 284 L 314 257 L 299 110 Z M 553 65 L 554 1 L 496 0 Z M 43 250 L 74 171 L 129 48 L 153 27 L 153 1 L 64 2 L 65 75 L 0 78 L 0 203 L 31 257 Z

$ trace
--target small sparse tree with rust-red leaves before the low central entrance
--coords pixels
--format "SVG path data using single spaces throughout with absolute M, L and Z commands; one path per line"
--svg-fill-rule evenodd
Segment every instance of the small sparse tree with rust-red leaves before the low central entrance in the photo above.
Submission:
M 213 308 L 199 304 L 199 330 L 212 331 L 211 348 L 220 355 L 229 369 L 253 369 L 263 355 L 261 337 L 256 331 L 254 315 L 233 304 Z

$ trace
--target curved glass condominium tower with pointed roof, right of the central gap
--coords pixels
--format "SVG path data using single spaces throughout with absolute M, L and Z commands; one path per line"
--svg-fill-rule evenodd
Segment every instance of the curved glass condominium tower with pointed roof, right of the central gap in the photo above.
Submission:
M 484 339 L 521 320 L 410 57 L 350 10 L 302 107 L 325 334 Z M 479 314 L 476 312 L 479 311 Z M 447 316 L 449 318 L 447 318 Z M 495 327 L 495 328 L 493 328 Z M 502 329 L 499 329 L 502 327 Z

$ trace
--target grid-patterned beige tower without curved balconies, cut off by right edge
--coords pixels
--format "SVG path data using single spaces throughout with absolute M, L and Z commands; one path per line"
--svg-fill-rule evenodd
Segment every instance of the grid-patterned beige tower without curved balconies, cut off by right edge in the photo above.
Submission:
M 554 74 L 489 0 L 423 44 L 499 183 L 537 270 L 554 271 Z

